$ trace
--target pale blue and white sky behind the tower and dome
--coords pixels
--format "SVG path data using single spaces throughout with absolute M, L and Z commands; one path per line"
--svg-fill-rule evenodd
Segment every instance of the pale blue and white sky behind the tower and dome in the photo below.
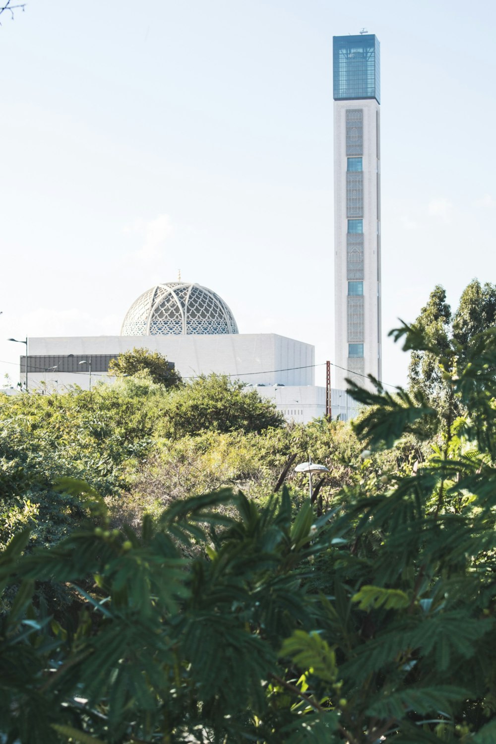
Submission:
M 334 358 L 332 36 L 381 42 L 388 331 L 496 280 L 496 5 L 27 0 L 0 16 L 0 376 L 26 336 L 117 335 L 155 283 Z M 5 340 L 4 340 L 5 339 Z

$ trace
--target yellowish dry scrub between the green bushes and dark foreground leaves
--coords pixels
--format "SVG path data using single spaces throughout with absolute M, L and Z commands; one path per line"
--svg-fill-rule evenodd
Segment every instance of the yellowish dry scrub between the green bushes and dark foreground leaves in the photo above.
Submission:
M 158 439 L 149 457 L 141 462 L 138 475 L 132 478 L 129 493 L 112 498 L 112 516 L 117 524 L 139 524 L 144 512 L 157 515 L 178 498 L 229 486 L 262 505 L 270 498 L 290 458 L 292 464 L 284 483 L 297 510 L 307 498 L 309 487 L 306 473 L 294 472 L 294 466 L 309 456 L 329 468 L 317 494 L 323 508 L 329 509 L 341 498 L 343 487 L 358 483 L 365 471 L 377 472 L 379 477 L 384 469 L 394 469 L 405 460 L 396 448 L 364 464 L 362 449 L 347 423 L 323 419 L 307 426 L 271 428 L 262 434 L 207 431 L 174 440 Z M 315 479 L 314 487 L 319 482 Z

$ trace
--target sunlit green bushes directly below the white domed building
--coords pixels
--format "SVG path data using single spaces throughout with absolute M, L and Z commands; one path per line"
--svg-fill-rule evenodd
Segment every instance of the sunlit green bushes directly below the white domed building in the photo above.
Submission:
M 81 524 L 87 509 L 54 487 L 60 477 L 88 481 L 126 511 L 126 490 L 146 458 L 174 448 L 170 439 L 268 426 L 283 426 L 272 403 L 215 375 L 179 388 L 138 374 L 92 391 L 0 395 L 0 549 L 26 525 L 32 542 L 55 544 Z

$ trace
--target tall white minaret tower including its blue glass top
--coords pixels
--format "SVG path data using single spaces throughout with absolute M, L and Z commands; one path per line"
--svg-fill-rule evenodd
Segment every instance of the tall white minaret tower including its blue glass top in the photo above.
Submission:
M 345 388 L 381 379 L 379 40 L 335 36 L 333 57 L 334 384 Z

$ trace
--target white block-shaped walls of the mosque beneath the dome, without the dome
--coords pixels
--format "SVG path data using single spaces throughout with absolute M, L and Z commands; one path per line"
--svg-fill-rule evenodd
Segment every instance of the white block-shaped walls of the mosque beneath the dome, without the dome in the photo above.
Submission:
M 314 347 L 275 333 L 32 338 L 28 346 L 28 388 L 37 393 L 62 392 L 74 385 L 88 390 L 88 365 L 80 365 L 88 359 L 93 365 L 91 387 L 112 382 L 115 378 L 106 372 L 95 371 L 97 360 L 134 347 L 164 354 L 185 379 L 210 372 L 240 379 L 247 383 L 248 390 L 255 389 L 261 397 L 274 401 L 288 421 L 309 423 L 326 413 L 326 388 L 314 384 Z M 24 363 L 22 357 L 22 382 Z M 19 388 L 11 392 L 16 391 Z M 347 420 L 356 413 L 356 404 L 342 390 L 332 389 L 331 403 L 334 419 Z

